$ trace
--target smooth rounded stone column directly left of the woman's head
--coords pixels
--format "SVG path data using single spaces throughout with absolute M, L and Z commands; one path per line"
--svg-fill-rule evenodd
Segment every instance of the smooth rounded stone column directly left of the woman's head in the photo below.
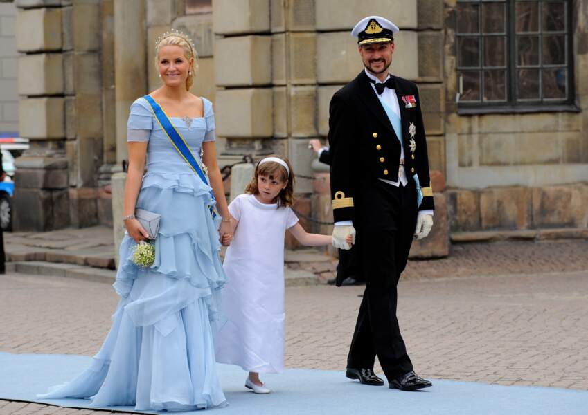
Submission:
M 145 2 L 114 1 L 116 163 L 127 158 L 127 119 L 134 100 L 147 92 Z

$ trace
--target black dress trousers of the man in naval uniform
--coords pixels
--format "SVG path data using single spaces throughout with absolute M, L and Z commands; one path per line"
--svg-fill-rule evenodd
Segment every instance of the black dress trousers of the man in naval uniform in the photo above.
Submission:
M 377 356 L 390 381 L 413 370 L 396 318 L 396 286 L 416 228 L 416 187 L 410 179 L 406 187 L 376 180 L 360 192 L 353 224 L 366 289 L 347 367 L 373 368 Z

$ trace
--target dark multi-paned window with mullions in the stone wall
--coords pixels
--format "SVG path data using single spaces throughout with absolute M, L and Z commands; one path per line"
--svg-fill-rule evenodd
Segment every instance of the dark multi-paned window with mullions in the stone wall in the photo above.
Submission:
M 458 0 L 460 106 L 571 100 L 569 0 Z

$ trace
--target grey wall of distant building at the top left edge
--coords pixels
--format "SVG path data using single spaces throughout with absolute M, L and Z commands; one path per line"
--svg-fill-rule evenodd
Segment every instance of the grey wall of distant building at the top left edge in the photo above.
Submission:
M 17 8 L 0 3 L 0 133 L 18 131 Z

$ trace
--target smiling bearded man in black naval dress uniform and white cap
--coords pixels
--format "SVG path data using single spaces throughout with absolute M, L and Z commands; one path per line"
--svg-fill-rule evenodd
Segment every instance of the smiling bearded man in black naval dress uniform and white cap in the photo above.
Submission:
M 431 382 L 415 374 L 402 340 L 397 284 L 413 238 L 431 230 L 434 203 L 417 86 L 388 71 L 397 32 L 383 17 L 359 21 L 352 35 L 365 70 L 330 102 L 333 245 L 349 249 L 345 238 L 357 235 L 366 279 L 346 376 L 383 385 L 373 373 L 377 356 L 390 388 L 416 390 Z

